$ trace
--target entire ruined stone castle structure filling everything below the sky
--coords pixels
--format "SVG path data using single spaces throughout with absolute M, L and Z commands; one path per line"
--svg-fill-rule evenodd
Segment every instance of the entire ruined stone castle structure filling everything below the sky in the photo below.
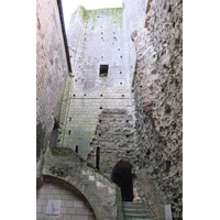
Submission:
M 37 219 L 183 219 L 182 1 L 36 3 Z

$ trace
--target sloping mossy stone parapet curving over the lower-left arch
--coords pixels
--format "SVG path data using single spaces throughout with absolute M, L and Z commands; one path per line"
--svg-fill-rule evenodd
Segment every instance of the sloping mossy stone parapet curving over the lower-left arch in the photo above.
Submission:
M 42 175 L 58 177 L 78 189 L 91 205 L 97 220 L 123 220 L 119 187 L 73 150 L 48 147 Z

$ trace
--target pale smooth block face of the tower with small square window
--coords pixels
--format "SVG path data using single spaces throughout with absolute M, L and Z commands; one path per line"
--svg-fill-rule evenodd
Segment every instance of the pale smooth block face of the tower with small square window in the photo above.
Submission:
M 130 37 L 123 14 L 122 8 L 87 11 L 79 7 L 72 19 L 78 22 L 77 30 L 80 29 L 82 34 L 76 55 L 77 65 L 73 67 L 75 77 L 59 146 L 73 150 L 78 146 L 84 158 L 92 150 L 90 143 L 103 109 L 127 109 L 134 117 Z M 74 25 L 70 24 L 68 42 L 72 42 L 72 48 L 75 35 Z M 108 65 L 107 76 L 100 76 L 101 65 Z

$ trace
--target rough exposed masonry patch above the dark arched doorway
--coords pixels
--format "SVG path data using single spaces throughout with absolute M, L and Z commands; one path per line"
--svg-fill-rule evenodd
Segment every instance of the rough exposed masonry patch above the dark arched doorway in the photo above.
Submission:
M 100 172 L 109 178 L 120 161 L 127 161 L 135 167 L 134 131 L 133 117 L 127 109 L 105 109 L 99 114 L 96 136 L 91 142 L 92 151 L 88 155 L 88 161 L 96 166 L 96 151 L 99 146 Z

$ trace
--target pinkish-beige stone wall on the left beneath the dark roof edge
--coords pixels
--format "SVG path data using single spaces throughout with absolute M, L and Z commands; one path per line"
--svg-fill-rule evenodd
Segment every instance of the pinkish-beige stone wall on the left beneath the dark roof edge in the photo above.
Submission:
M 45 150 L 68 76 L 56 0 L 36 1 L 36 158 Z

